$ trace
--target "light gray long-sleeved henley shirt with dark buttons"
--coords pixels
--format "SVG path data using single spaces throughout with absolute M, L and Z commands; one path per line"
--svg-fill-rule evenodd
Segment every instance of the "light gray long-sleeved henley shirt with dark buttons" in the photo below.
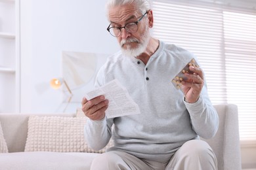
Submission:
M 139 105 L 141 114 L 88 120 L 85 139 L 89 146 L 100 150 L 112 137 L 114 146 L 108 151 L 123 150 L 138 158 L 166 162 L 186 141 L 213 137 L 219 118 L 206 83 L 196 103 L 186 103 L 181 90 L 171 84 L 192 58 L 196 56 L 163 41 L 146 65 L 121 52 L 110 56 L 98 72 L 95 87 L 116 78 Z

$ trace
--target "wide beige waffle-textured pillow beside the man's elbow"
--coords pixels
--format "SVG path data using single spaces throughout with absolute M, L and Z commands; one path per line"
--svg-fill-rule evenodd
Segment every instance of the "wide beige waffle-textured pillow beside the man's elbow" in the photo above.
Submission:
M 84 139 L 86 117 L 30 116 L 25 152 L 106 152 L 112 146 L 95 151 Z

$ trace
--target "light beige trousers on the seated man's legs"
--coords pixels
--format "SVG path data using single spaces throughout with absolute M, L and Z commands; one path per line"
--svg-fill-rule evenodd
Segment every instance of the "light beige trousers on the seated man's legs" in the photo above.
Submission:
M 97 156 L 91 170 L 213 170 L 217 159 L 205 141 L 191 140 L 184 143 L 167 163 L 141 160 L 123 151 L 111 151 Z

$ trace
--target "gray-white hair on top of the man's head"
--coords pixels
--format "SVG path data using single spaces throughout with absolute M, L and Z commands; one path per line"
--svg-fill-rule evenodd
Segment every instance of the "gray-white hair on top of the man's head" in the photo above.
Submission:
M 134 3 L 137 9 L 144 14 L 144 12 L 151 9 L 150 0 L 108 0 L 106 3 L 106 16 L 108 18 L 108 12 L 110 8 L 116 7 L 117 5 L 127 5 Z

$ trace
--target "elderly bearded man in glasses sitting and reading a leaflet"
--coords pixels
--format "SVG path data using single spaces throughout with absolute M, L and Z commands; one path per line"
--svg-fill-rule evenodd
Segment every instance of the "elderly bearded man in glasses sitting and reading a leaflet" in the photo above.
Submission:
M 83 98 L 89 146 L 100 150 L 114 140 L 91 169 L 217 169 L 213 150 L 200 140 L 213 137 L 219 126 L 202 69 L 190 66 L 181 90 L 171 84 L 181 65 L 196 57 L 150 35 L 154 17 L 148 0 L 109 0 L 106 7 L 107 30 L 121 51 L 102 66 L 95 87 L 117 79 L 141 114 L 108 118 L 104 95 Z

